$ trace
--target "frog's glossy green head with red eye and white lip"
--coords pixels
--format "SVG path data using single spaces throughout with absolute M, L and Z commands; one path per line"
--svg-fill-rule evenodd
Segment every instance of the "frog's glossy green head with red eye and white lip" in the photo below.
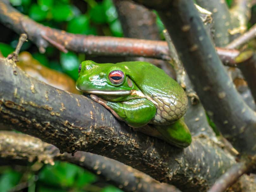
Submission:
M 125 101 L 134 98 L 136 84 L 126 75 L 124 66 L 113 63 L 83 61 L 78 69 L 76 88 L 87 94 L 95 94 L 108 101 Z

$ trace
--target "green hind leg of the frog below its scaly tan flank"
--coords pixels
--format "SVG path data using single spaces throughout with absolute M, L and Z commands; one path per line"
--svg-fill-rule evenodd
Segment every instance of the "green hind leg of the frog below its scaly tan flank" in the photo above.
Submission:
M 184 117 L 170 125 L 155 125 L 155 128 L 161 133 L 165 141 L 176 147 L 188 147 L 192 141 L 190 131 L 184 122 Z

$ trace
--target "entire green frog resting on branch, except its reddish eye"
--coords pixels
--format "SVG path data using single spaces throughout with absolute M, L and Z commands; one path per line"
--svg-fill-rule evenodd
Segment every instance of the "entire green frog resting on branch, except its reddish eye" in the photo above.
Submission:
M 109 73 L 120 70 L 124 81 L 113 84 Z M 83 61 L 76 88 L 134 128 L 152 124 L 162 138 L 187 147 L 191 134 L 184 118 L 187 97 L 180 85 L 162 69 L 147 62 L 95 63 Z

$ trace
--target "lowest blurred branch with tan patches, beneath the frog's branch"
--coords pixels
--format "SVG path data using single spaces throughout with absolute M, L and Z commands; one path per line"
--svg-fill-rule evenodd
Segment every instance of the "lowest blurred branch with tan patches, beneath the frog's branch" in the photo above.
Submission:
M 0 157 L 1 162 L 15 160 L 22 164 L 39 161 L 53 165 L 56 160 L 67 161 L 104 177 L 124 191 L 180 191 L 113 159 L 82 151 L 76 152 L 74 156 L 70 153 L 60 154 L 57 147 L 21 133 L 0 132 Z

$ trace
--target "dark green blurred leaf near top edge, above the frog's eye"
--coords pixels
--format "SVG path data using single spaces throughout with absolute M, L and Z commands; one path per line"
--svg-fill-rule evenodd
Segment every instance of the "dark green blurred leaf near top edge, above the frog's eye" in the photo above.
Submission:
M 91 20 L 94 23 L 102 24 L 106 23 L 106 15 L 105 15 L 105 9 L 102 5 L 102 3 L 97 4 L 95 7 L 93 7 L 90 11 Z

